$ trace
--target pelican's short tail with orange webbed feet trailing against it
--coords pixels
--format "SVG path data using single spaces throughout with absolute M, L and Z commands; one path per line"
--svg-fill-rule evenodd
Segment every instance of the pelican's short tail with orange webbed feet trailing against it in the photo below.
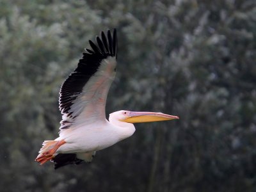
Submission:
M 54 157 L 56 150 L 65 143 L 64 140 L 44 141 L 43 147 L 40 149 L 39 155 L 36 157 L 35 161 L 40 164 L 50 161 Z

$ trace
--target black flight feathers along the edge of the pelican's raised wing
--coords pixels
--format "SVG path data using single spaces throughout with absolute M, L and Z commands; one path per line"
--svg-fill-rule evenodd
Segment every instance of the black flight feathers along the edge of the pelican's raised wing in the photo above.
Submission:
M 67 116 L 72 116 L 70 108 L 74 103 L 74 100 L 81 94 L 84 85 L 89 81 L 90 77 L 97 72 L 100 66 L 100 62 L 106 59 L 108 56 L 116 56 L 116 29 L 113 32 L 113 38 L 111 32 L 108 30 L 108 40 L 104 32 L 100 37 L 97 37 L 97 44 L 94 44 L 89 40 L 89 44 L 92 48 L 86 49 L 87 52 L 83 53 L 83 58 L 79 60 L 77 68 L 72 72 L 68 78 L 64 81 L 60 90 L 60 110 L 61 113 L 67 113 Z

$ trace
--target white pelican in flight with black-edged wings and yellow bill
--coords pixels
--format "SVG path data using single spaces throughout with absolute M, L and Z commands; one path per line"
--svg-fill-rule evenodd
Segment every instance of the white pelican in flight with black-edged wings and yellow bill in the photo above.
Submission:
M 179 119 L 178 116 L 144 111 L 116 111 L 106 120 L 108 91 L 116 75 L 116 29 L 102 31 L 95 42 L 89 40 L 83 58 L 60 89 L 62 114 L 59 137 L 44 141 L 35 161 L 54 163 L 54 168 L 67 164 L 91 162 L 95 152 L 129 138 L 134 123 Z

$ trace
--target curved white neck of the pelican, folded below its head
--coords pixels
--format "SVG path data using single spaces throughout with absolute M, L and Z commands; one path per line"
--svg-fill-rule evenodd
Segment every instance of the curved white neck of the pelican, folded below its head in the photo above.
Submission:
M 135 127 L 133 124 L 122 122 L 112 116 L 109 116 L 109 123 L 115 125 L 116 129 L 118 129 L 118 132 L 120 133 L 120 140 L 129 138 L 135 131 Z

